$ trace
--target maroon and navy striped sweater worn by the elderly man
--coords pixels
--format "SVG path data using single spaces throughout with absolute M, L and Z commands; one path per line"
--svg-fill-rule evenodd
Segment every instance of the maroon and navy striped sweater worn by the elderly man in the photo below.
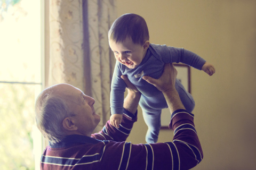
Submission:
M 203 158 L 194 115 L 181 109 L 171 117 L 172 142 L 133 145 L 125 140 L 137 121 L 137 114 L 124 110 L 119 129 L 108 121 L 91 138 L 69 135 L 60 143 L 47 146 L 41 169 L 190 169 Z

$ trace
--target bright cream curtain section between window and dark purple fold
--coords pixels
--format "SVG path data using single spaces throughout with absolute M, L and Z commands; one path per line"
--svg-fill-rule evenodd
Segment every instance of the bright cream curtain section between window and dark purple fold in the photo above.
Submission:
M 49 86 L 69 83 L 83 88 L 81 1 L 50 1 Z

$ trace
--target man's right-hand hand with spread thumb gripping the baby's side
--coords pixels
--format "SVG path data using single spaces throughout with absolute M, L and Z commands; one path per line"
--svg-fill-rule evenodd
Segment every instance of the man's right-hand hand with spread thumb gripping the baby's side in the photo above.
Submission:
M 176 90 L 175 80 L 177 73 L 178 72 L 173 64 L 167 63 L 164 65 L 164 72 L 159 79 L 153 79 L 149 76 L 143 76 L 142 79 L 146 80 L 150 84 L 153 84 L 159 91 L 174 91 Z

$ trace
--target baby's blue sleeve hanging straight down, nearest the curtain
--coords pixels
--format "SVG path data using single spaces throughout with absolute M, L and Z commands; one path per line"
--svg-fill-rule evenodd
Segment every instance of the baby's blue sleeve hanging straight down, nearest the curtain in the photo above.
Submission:
M 123 114 L 124 92 L 126 84 L 121 78 L 121 64 L 116 61 L 114 74 L 111 81 L 110 111 L 113 114 Z

